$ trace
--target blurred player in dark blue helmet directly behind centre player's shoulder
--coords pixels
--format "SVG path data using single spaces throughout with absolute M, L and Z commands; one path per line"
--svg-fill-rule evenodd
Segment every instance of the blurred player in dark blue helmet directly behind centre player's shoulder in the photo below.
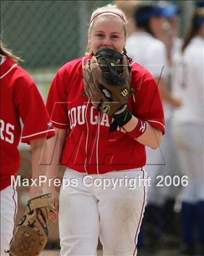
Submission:
M 150 221 L 149 234 L 151 234 L 152 247 L 156 246 L 156 241 L 159 241 L 161 237 L 161 230 L 163 230 L 164 222 L 164 205 L 168 206 L 168 214 L 172 215 L 175 196 L 178 193 L 177 188 L 157 187 L 156 184 L 159 181 L 156 179 L 157 175 L 178 175 L 178 168 L 172 168 L 171 162 L 176 163 L 176 157 L 174 147 L 171 139 L 171 112 L 172 108 L 178 108 L 180 106 L 179 97 L 175 97 L 170 92 L 170 60 L 168 60 L 168 54 L 166 46 L 161 39 L 164 40 L 164 32 L 166 29 L 170 29 L 170 23 L 168 19 L 173 18 L 176 15 L 177 9 L 172 8 L 172 5 L 158 4 L 158 3 L 141 3 L 136 6 L 135 9 L 135 24 L 136 32 L 132 33 L 127 40 L 127 52 L 128 56 L 133 58 L 133 61 L 143 65 L 154 76 L 158 84 L 161 98 L 163 100 L 165 124 L 167 132 L 164 140 L 161 143 L 161 148 L 153 151 L 147 148 L 147 163 L 146 170 L 151 177 L 151 187 L 149 187 L 149 198 L 147 216 Z M 174 191 L 173 191 L 174 190 Z M 166 202 L 168 200 L 168 202 Z M 168 220 L 170 223 L 171 217 Z M 172 221 L 172 220 L 171 220 Z M 144 224 L 145 225 L 145 224 Z M 143 227 L 143 225 L 142 225 Z M 139 239 L 141 236 L 139 236 Z M 140 241 L 140 240 L 139 240 Z M 141 241 L 141 243 L 143 243 Z

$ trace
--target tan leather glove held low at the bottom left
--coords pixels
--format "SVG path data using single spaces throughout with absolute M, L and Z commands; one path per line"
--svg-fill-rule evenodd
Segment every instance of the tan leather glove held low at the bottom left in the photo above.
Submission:
M 11 256 L 36 256 L 47 243 L 48 212 L 52 212 L 54 198 L 52 194 L 35 197 L 27 202 L 25 215 L 18 223 L 10 242 Z M 43 218 L 43 222 L 41 221 Z

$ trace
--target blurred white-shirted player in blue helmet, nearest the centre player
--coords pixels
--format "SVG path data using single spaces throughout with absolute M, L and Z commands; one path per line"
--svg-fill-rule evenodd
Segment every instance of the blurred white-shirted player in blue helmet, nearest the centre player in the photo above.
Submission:
M 126 48 L 129 56 L 134 61 L 143 65 L 159 81 L 159 90 L 163 99 L 165 124 L 167 133 L 164 137 L 161 148 L 151 150 L 147 148 L 147 170 L 151 177 L 151 186 L 149 187 L 149 198 L 147 205 L 147 214 L 151 216 L 152 223 L 157 226 L 162 220 L 162 207 L 168 192 L 165 187 L 157 187 L 157 175 L 166 175 L 170 173 L 170 144 L 169 123 L 171 108 L 180 106 L 180 100 L 171 95 L 166 81 L 169 76 L 169 63 L 167 59 L 166 47 L 156 37 L 161 38 L 166 17 L 171 17 L 173 12 L 166 12 L 166 9 L 157 4 L 141 4 L 136 8 L 135 22 L 137 25 L 136 33 L 129 36 Z M 157 214 L 154 214 L 157 212 Z M 155 239 L 154 239 L 155 240 Z M 154 245 L 155 245 L 154 241 Z

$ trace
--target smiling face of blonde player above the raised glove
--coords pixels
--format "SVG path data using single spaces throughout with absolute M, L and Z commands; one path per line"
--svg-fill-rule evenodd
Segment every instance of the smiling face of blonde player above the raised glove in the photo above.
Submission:
M 101 48 L 109 48 L 122 52 L 126 45 L 123 22 L 114 17 L 100 17 L 94 21 L 89 42 L 91 51 L 96 54 Z

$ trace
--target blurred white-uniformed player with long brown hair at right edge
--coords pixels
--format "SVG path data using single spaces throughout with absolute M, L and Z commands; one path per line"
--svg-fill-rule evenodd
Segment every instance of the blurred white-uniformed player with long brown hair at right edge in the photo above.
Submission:
M 204 255 L 204 5 L 195 10 L 190 25 L 182 54 L 174 59 L 173 91 L 182 97 L 182 106 L 174 114 L 173 134 L 180 170 L 189 182 L 180 195 L 185 242 L 182 255 L 196 253 L 195 230 L 201 243 L 200 255 Z

